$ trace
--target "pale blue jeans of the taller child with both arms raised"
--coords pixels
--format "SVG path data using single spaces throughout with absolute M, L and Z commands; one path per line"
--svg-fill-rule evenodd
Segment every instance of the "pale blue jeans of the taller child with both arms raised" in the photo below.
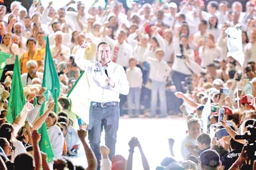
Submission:
M 160 114 L 167 115 L 167 100 L 166 100 L 166 94 L 165 94 L 165 82 L 152 80 L 150 116 L 155 116 L 157 114 L 158 94 L 159 94 L 159 101 L 160 101 Z

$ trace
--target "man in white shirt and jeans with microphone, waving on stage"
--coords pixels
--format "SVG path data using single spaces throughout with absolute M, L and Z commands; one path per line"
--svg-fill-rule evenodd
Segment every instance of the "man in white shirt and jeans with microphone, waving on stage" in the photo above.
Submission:
M 99 61 L 85 60 L 84 55 L 80 55 L 84 54 L 85 50 L 86 48 L 78 49 L 75 63 L 88 74 L 91 99 L 88 138 L 100 169 L 101 128 L 104 127 L 105 143 L 110 149 L 109 158 L 112 159 L 116 151 L 119 94 L 129 93 L 129 83 L 124 68 L 111 61 L 112 48 L 108 43 L 99 43 L 97 51 Z

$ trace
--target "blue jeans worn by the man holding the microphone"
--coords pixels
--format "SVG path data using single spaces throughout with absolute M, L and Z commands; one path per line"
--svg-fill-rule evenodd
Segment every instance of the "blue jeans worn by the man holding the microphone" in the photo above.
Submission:
M 88 139 L 100 168 L 101 153 L 99 146 L 101 143 L 101 132 L 105 130 L 105 145 L 109 148 L 109 159 L 112 159 L 116 152 L 116 138 L 119 125 L 119 103 L 114 105 L 93 105 L 89 108 L 89 129 Z

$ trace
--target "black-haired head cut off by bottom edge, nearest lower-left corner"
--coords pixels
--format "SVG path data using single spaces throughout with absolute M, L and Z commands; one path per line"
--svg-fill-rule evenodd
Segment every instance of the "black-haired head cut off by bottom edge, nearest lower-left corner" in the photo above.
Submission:
M 29 153 L 21 153 L 14 159 L 15 170 L 34 170 L 34 158 Z

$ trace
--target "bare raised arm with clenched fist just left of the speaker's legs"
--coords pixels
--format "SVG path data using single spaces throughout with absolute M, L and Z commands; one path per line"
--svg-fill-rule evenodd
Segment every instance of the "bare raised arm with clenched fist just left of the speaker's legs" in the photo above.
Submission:
M 83 144 L 83 148 L 85 150 L 86 158 L 87 158 L 87 163 L 88 163 L 88 170 L 94 170 L 97 169 L 97 159 L 96 156 L 94 155 L 93 151 L 91 148 L 89 148 L 88 144 L 85 141 L 87 135 L 87 131 L 80 129 L 78 130 L 78 136 Z

